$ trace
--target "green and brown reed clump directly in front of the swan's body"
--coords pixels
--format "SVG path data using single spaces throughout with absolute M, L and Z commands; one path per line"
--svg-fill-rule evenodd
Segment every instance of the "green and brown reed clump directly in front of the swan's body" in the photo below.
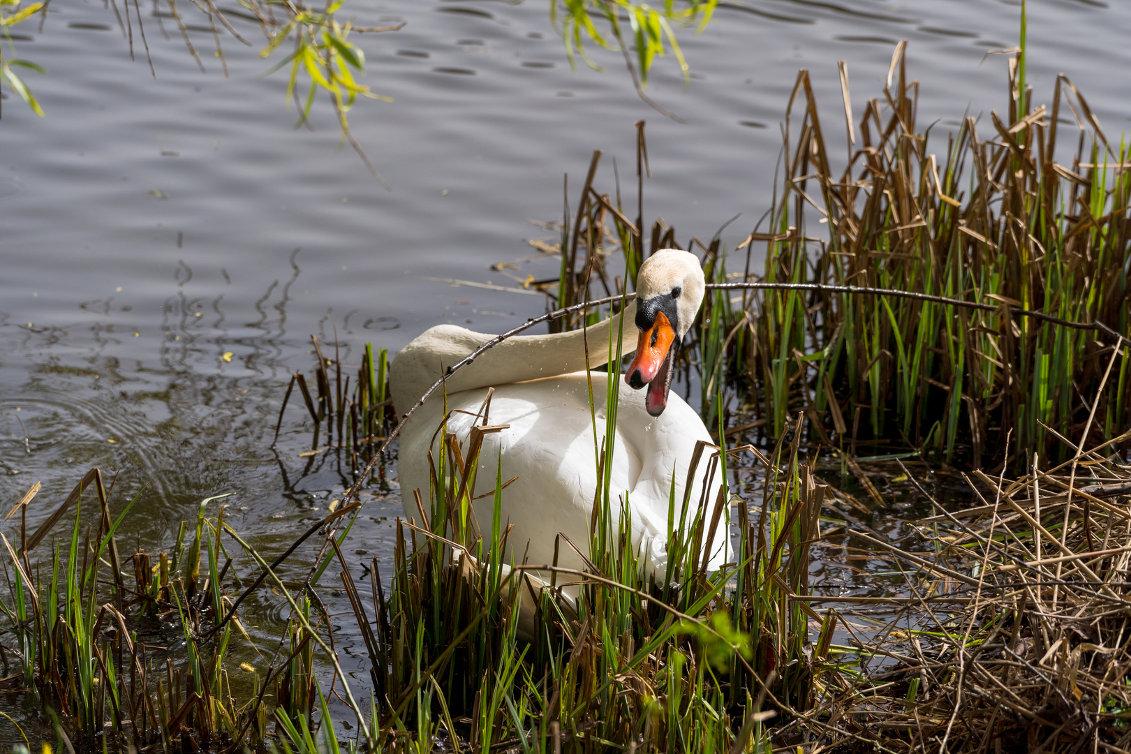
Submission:
M 618 363 L 622 348 L 623 333 L 601 361 Z M 555 558 L 549 575 L 538 572 L 549 581 L 529 578 L 516 561 L 523 543 L 503 528 L 498 473 L 490 528 L 476 522 L 490 417 L 463 440 L 440 427 L 428 499 L 405 491 L 418 515 L 398 527 L 391 592 L 374 590 L 372 616 L 354 604 L 359 625 L 372 626 L 365 641 L 385 700 L 373 719 L 385 720 L 386 751 L 421 751 L 435 736 L 483 752 L 769 751 L 762 721 L 809 709 L 830 674 L 851 665 L 834 657 L 835 615 L 806 653 L 812 612 L 795 597 L 808 593 L 823 487 L 800 459 L 800 424 L 794 443 L 778 445 L 782 468 L 760 514 L 737 502 L 739 547 L 717 573 L 703 553 L 727 536 L 725 459 L 749 451 L 701 443 L 690 473 L 673 469 L 667 571 L 645 578 L 629 493 L 610 482 L 620 380 L 606 379 L 604 395 L 594 383 L 598 488 L 584 573 L 561 571 Z M 677 500 L 674 475 L 685 473 L 706 486 L 711 476 L 724 482 L 717 514 L 710 501 L 690 499 L 690 485 Z M 582 582 L 576 599 L 554 587 L 567 579 Z

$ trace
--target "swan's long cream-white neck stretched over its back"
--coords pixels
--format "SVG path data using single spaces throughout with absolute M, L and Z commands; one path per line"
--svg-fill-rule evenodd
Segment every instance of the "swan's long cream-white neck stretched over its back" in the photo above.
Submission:
M 636 302 L 624 312 L 585 330 L 508 338 L 482 353 L 448 379 L 447 391 L 459 392 L 568 374 L 608 363 L 610 343 L 615 358 L 618 337 L 621 353 L 636 350 Z M 473 332 L 451 324 L 425 331 L 397 354 L 390 370 L 392 402 L 407 411 L 443 371 L 495 336 Z M 588 353 L 588 359 L 586 359 Z

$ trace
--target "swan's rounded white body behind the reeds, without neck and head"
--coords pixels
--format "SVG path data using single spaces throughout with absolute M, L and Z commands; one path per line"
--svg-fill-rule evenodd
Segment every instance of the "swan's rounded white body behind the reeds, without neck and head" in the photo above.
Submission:
M 589 526 L 597 489 L 596 437 L 605 430 L 605 389 L 607 374 L 592 373 L 594 415 L 589 407 L 589 381 L 585 372 L 504 384 L 495 389 L 486 421 L 509 424 L 502 432 L 486 435 L 476 475 L 475 518 L 484 534 L 490 531 L 495 479 L 515 482 L 502 491 L 502 526 L 512 525 L 508 558 L 528 564 L 551 564 L 558 535 L 564 534 L 582 552 L 588 552 Z M 615 378 L 614 378 L 615 379 Z M 480 411 L 486 390 L 449 393 L 450 417 L 446 431 L 454 433 L 466 448 L 474 415 Z M 414 489 L 429 499 L 429 450 L 439 458 L 443 433 L 443 402 L 429 401 L 414 414 L 400 445 L 399 475 L 405 514 L 420 518 Z M 594 421 L 595 418 L 595 421 Z M 483 418 L 477 423 L 482 424 Z M 432 439 L 435 437 L 435 442 Z M 619 398 L 616 437 L 613 451 L 610 496 L 614 520 L 619 501 L 629 506 L 632 544 L 640 553 L 641 570 L 662 578 L 667 560 L 667 512 L 675 482 L 676 526 L 684 499 L 688 465 L 697 442 L 710 443 L 702 421 L 677 396 L 658 417 L 648 415 L 644 395 L 622 391 Z M 599 442 L 599 440 L 598 440 Z M 501 465 L 500 465 L 501 461 Z M 705 471 L 710 466 L 706 453 L 692 480 L 690 510 L 699 505 Z M 705 502 L 708 520 L 716 503 L 719 480 L 710 484 Z M 725 523 L 716 535 L 713 567 L 725 562 Z M 564 540 L 558 541 L 559 564 L 581 567 L 582 562 Z

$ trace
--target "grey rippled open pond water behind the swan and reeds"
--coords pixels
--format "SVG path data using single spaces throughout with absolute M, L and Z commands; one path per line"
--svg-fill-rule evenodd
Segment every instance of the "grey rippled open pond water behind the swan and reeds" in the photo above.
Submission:
M 294 128 L 285 76 L 261 76 L 258 46 L 225 37 L 225 77 L 210 33 L 190 32 L 201 73 L 175 27 L 147 16 L 153 76 L 144 55 L 130 60 L 113 10 L 55 0 L 42 29 L 25 23 L 15 42 L 50 69 L 28 73 L 46 118 L 6 93 L 0 121 L 3 512 L 43 482 L 35 526 L 100 466 L 121 470 L 115 504 L 152 482 L 128 541 L 167 543 L 201 497 L 234 492 L 234 525 L 273 552 L 347 483 L 325 457 L 297 456 L 309 427 L 295 404 L 269 449 L 290 373 L 312 364 L 311 332 L 333 343 L 336 327 L 343 361 L 356 364 L 366 341 L 395 353 L 439 322 L 501 331 L 541 313 L 539 295 L 437 278 L 513 287 L 510 277 L 555 275 L 556 261 L 527 243 L 553 233 L 532 220 L 560 217 L 566 173 L 576 199 L 594 149 L 606 154 L 605 190 L 612 158 L 631 175 L 641 119 L 646 218 L 662 216 L 684 240 L 742 213 L 723 233 L 733 248 L 770 203 L 798 68 L 812 72 L 835 145 L 837 61 L 858 119 L 907 38 L 918 121 L 946 131 L 967 112 L 1003 109 L 1004 57 L 983 59 L 1016 44 L 1019 5 L 727 3 L 701 34 L 680 37 L 690 87 L 671 59 L 653 73 L 648 93 L 676 122 L 636 96 L 616 53 L 593 51 L 607 72 L 572 71 L 545 0 L 351 0 L 359 25 L 405 21 L 353 37 L 364 81 L 395 98 L 351 113 L 386 190 L 339 148 L 328 107 Z M 1051 98 L 1063 71 L 1116 138 L 1131 115 L 1131 6 L 1028 10 L 1035 101 Z M 234 23 L 259 44 L 257 27 Z M 492 271 L 498 262 L 519 269 Z M 370 499 L 348 548 L 359 563 L 390 558 L 399 509 L 395 488 Z M 838 578 L 851 588 L 861 577 Z M 253 609 L 262 633 L 285 618 L 269 599 Z

